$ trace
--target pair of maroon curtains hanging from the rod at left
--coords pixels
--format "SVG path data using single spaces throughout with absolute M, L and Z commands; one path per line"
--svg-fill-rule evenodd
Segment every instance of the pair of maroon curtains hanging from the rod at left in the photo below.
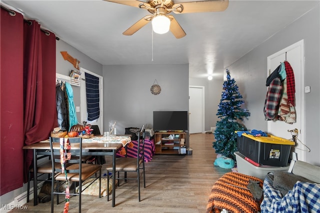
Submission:
M 36 21 L 23 21 L 21 14 L 10 16 L 1 8 L 0 37 L 0 194 L 3 195 L 26 182 L 32 152 L 25 151 L 23 158 L 22 146 L 47 139 L 57 121 L 55 35 L 42 32 Z M 15 51 L 8 54 L 12 49 Z

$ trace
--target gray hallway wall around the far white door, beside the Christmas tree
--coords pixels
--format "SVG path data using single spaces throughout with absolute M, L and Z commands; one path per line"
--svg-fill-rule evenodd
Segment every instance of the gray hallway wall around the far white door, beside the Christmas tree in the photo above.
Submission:
M 204 131 L 210 131 L 218 121 L 215 115 L 220 103 L 223 75 L 214 75 L 212 80 L 207 78 L 189 78 L 190 86 L 204 87 Z

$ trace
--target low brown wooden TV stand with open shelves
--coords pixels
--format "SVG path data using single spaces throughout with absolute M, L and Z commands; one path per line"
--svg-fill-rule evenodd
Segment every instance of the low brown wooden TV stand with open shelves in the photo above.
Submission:
M 185 136 L 183 131 L 155 132 L 155 154 L 185 154 Z

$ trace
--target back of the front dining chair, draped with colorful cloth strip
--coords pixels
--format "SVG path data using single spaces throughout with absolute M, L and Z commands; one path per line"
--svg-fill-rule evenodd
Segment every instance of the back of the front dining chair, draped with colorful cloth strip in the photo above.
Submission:
M 78 173 L 81 174 L 82 162 L 82 138 L 49 138 L 52 171 L 54 173 Z M 61 167 L 56 167 L 55 163 L 61 163 L 64 160 L 64 171 Z M 67 170 L 70 164 L 79 164 L 77 169 Z

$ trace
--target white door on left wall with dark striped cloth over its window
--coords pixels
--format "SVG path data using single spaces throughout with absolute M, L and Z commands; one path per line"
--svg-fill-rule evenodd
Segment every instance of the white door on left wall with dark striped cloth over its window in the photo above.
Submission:
M 93 72 L 90 72 L 89 70 L 83 69 L 82 67 L 80 68 L 81 71 L 81 123 L 85 121 L 87 124 L 91 125 L 98 125 L 100 133 L 103 134 L 103 77 L 100 75 L 97 75 Z M 98 119 L 94 121 L 88 121 L 87 120 L 87 110 L 86 110 L 86 94 L 85 94 L 85 75 L 84 73 L 89 73 L 91 75 L 94 75 L 99 78 L 99 98 L 100 98 L 100 116 Z

